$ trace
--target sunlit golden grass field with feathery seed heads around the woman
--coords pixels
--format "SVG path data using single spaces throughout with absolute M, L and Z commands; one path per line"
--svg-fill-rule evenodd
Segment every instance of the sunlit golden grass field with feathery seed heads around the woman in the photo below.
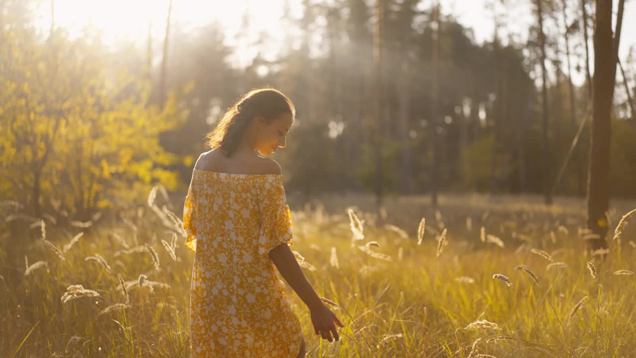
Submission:
M 190 356 L 193 254 L 183 197 L 162 193 L 94 223 L 0 206 L 3 357 Z M 636 224 L 602 259 L 585 253 L 581 199 L 387 197 L 376 214 L 372 197 L 289 197 L 292 250 L 345 324 L 319 339 L 287 287 L 308 357 L 636 357 Z M 612 202 L 609 239 L 634 207 Z

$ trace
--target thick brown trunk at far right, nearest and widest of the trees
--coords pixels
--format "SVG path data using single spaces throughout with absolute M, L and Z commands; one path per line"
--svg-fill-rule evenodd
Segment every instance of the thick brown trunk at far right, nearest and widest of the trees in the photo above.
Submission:
M 609 206 L 609 162 L 611 113 L 614 94 L 615 62 L 612 51 L 612 2 L 596 2 L 594 31 L 594 80 L 592 82 L 592 131 L 588 167 L 588 228 L 598 238 L 588 241 L 588 248 L 606 248 L 607 208 Z

